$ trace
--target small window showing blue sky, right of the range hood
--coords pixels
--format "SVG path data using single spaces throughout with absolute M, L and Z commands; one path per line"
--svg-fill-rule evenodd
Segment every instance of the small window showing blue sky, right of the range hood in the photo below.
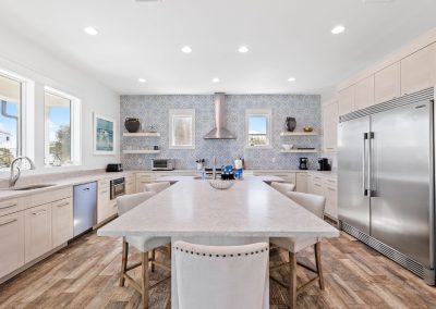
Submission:
M 246 147 L 271 147 L 271 111 L 246 110 Z

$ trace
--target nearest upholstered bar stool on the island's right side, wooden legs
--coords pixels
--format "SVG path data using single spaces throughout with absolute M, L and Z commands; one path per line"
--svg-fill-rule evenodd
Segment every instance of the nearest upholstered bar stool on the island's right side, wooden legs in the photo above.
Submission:
M 313 212 L 319 218 L 324 218 L 324 208 L 326 205 L 326 198 L 324 196 L 317 196 L 312 194 L 304 194 L 304 193 L 295 193 L 289 191 L 286 194 L 290 199 L 294 202 L 299 203 L 300 206 L 304 207 L 308 211 Z M 311 286 L 313 283 L 318 282 L 319 288 L 324 289 L 324 277 L 323 277 L 323 268 L 320 263 L 320 239 L 319 238 L 294 238 L 294 237 L 278 237 L 278 238 L 269 238 L 269 242 L 282 249 L 288 250 L 289 252 L 289 262 L 282 263 L 276 267 L 270 268 L 270 270 L 289 265 L 289 286 L 283 284 L 282 282 L 276 280 L 271 276 L 271 280 L 279 283 L 284 287 L 289 287 L 290 294 L 290 307 L 295 308 L 296 304 L 296 296 L 298 293 L 302 292 L 306 287 Z M 296 261 L 296 254 L 307 247 L 314 246 L 315 252 L 315 264 L 316 269 L 313 269 L 310 265 L 303 264 Z M 296 264 L 316 273 L 316 276 L 308 281 L 307 283 L 303 284 L 301 287 L 296 288 Z

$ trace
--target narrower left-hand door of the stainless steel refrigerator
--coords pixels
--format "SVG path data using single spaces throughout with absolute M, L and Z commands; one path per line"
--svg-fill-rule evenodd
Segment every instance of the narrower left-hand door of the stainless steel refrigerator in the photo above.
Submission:
M 368 139 L 370 116 L 342 122 L 338 127 L 339 220 L 370 234 Z

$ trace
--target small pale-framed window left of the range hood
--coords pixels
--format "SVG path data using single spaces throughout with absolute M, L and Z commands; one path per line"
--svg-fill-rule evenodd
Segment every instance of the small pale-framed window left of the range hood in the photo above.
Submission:
M 195 149 L 195 110 L 170 110 L 170 149 Z

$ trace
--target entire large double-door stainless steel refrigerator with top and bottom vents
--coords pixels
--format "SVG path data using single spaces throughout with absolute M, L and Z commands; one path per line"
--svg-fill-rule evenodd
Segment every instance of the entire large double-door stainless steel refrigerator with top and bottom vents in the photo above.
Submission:
M 434 88 L 340 118 L 339 225 L 435 284 Z

